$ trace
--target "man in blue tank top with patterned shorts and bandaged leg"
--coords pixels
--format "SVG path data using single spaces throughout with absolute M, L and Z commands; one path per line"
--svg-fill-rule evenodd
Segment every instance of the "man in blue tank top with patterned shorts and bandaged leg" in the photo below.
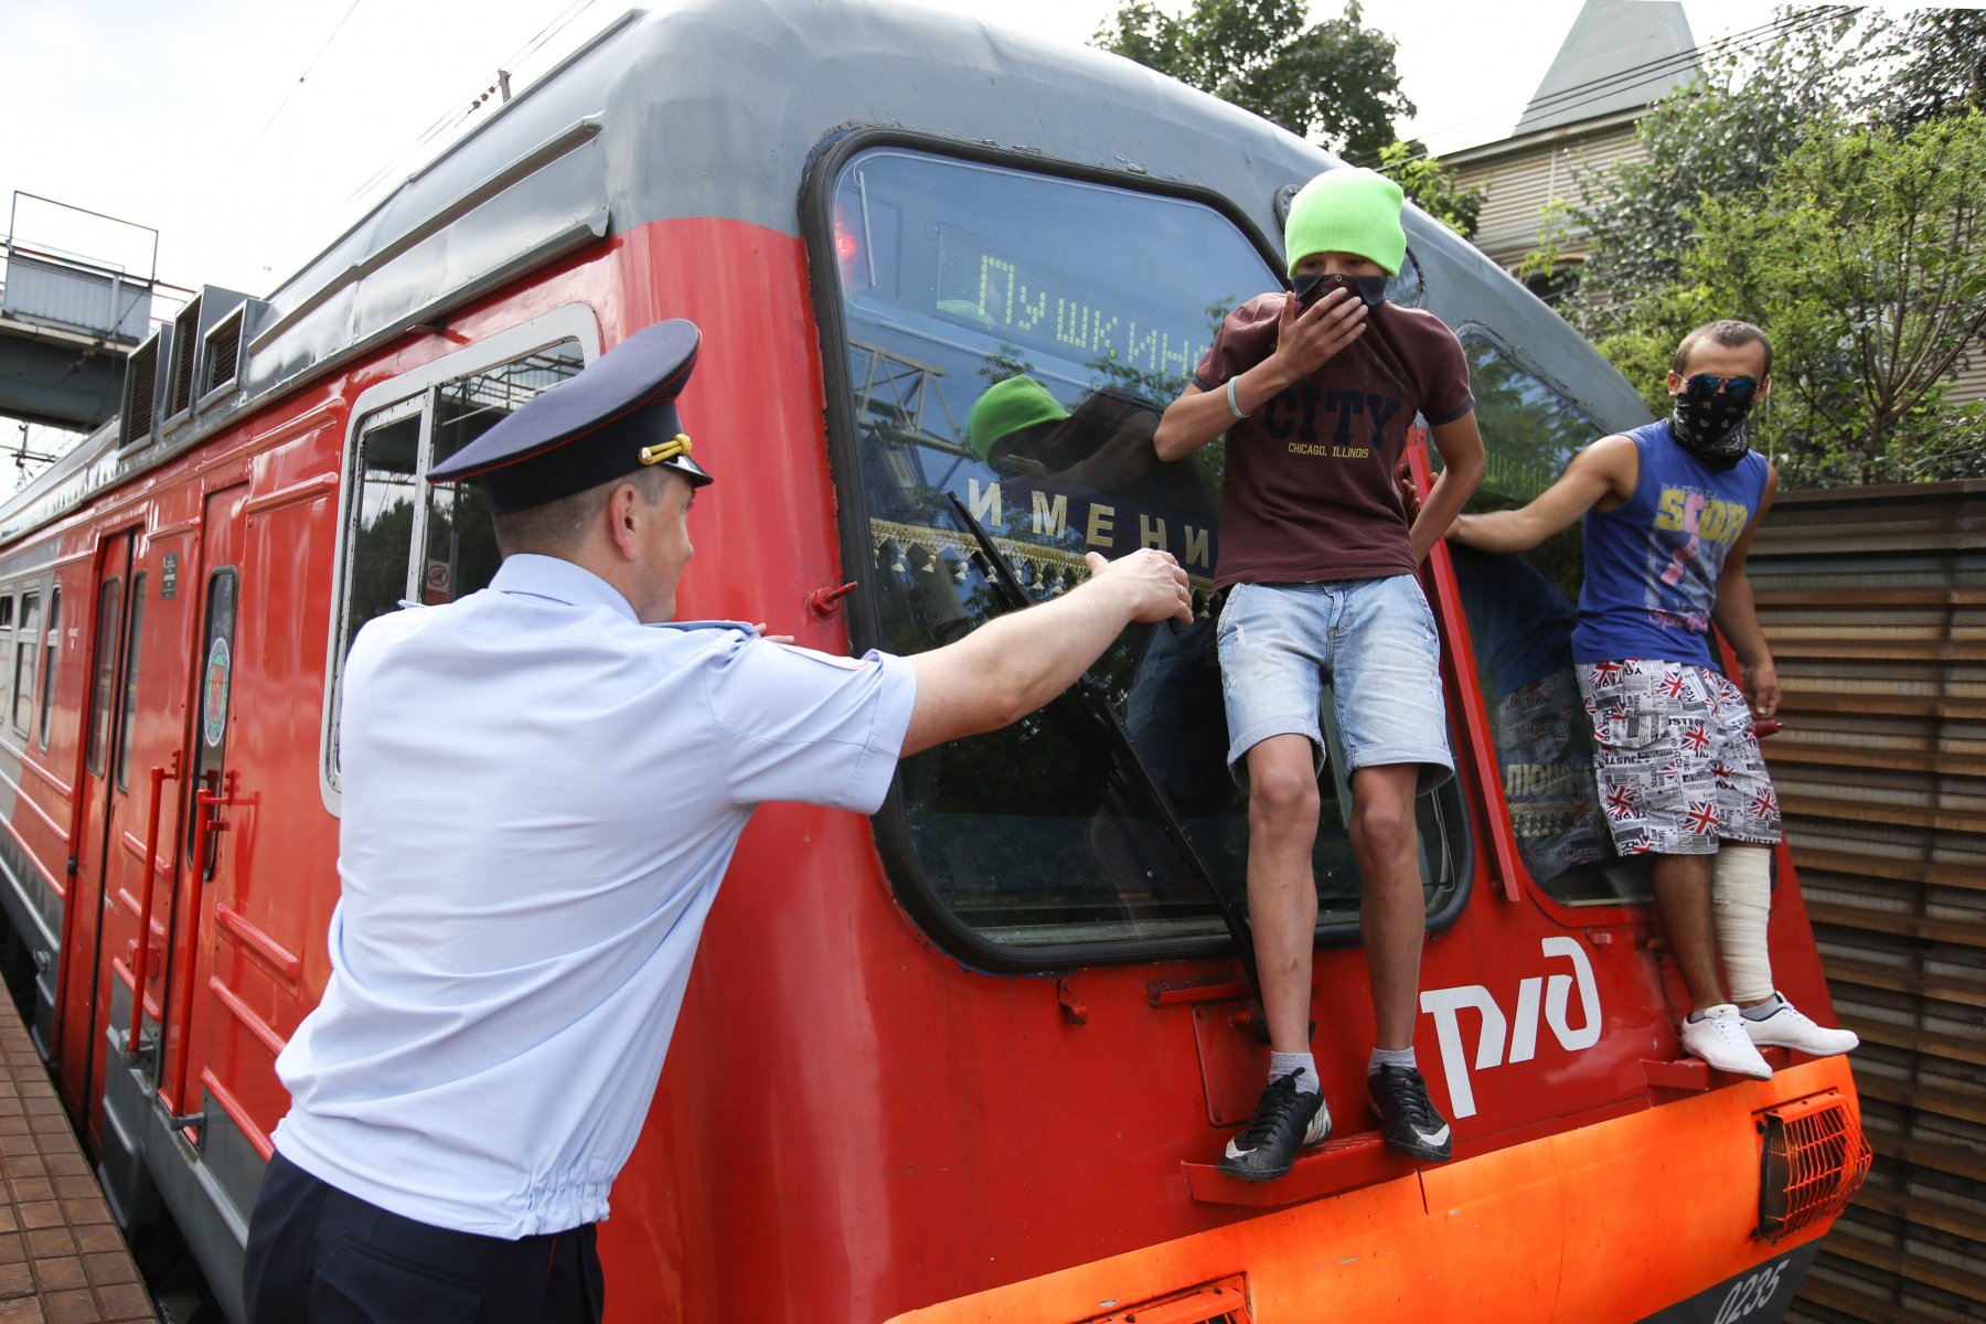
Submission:
M 1760 1046 L 1857 1044 L 1773 989 L 1766 951 L 1772 852 L 1760 848 L 1779 840 L 1779 800 L 1754 715 L 1777 711 L 1779 677 L 1744 560 L 1775 474 L 1744 423 L 1770 371 L 1756 326 L 1696 328 L 1668 371 L 1668 419 L 1595 441 L 1529 506 L 1464 514 L 1448 534 L 1480 552 L 1527 552 L 1585 518 L 1573 665 L 1615 850 L 1654 856 L 1654 899 L 1692 1004 L 1682 1046 L 1760 1080 L 1772 1076 Z M 1718 667 L 1712 621 L 1738 653 L 1750 705 Z

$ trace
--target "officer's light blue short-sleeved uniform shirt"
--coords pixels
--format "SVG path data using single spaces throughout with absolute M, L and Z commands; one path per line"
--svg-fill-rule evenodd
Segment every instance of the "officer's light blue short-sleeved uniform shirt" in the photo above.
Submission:
M 606 1217 L 753 806 L 876 812 L 914 697 L 898 657 L 641 625 L 544 556 L 367 623 L 332 979 L 276 1060 L 276 1147 L 439 1227 Z

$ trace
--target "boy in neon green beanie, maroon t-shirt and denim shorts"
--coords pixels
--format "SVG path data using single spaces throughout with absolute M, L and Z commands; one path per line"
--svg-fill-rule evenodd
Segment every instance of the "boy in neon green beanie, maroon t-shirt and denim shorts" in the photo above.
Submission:
M 1468 363 L 1440 318 L 1384 302 L 1406 234 L 1400 189 L 1319 175 L 1291 202 L 1297 294 L 1233 310 L 1158 425 L 1174 461 L 1227 435 L 1215 586 L 1227 764 L 1249 790 L 1247 899 L 1269 1020 L 1269 1086 L 1221 1171 L 1269 1181 L 1331 1133 L 1311 1058 L 1319 709 L 1329 683 L 1352 788 L 1350 844 L 1376 1048 L 1368 1094 L 1386 1143 L 1450 1155 L 1414 1062 L 1426 909 L 1414 796 L 1454 772 L 1434 615 L 1414 578 L 1484 474 Z M 1317 298 L 1319 282 L 1348 288 Z M 1341 282 L 1343 284 L 1343 282 Z M 1424 415 L 1446 472 L 1412 522 L 1394 466 Z

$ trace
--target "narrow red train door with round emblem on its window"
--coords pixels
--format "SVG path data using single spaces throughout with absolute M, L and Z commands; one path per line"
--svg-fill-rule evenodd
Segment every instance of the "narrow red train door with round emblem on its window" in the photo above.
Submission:
M 226 877 L 240 852 L 232 822 L 244 796 L 228 770 L 230 701 L 236 681 L 234 621 L 242 596 L 242 522 L 248 486 L 230 486 L 207 496 L 201 520 L 201 588 L 195 603 L 199 627 L 193 635 L 193 723 L 187 730 L 183 764 L 187 812 L 173 911 L 167 931 L 167 991 L 161 1006 L 159 1100 L 175 1120 L 195 1125 L 203 1112 L 201 1064 L 209 1034 L 213 998 L 207 983 L 213 969 L 213 925 L 216 877 Z M 197 1135 L 197 1131 L 195 1131 Z

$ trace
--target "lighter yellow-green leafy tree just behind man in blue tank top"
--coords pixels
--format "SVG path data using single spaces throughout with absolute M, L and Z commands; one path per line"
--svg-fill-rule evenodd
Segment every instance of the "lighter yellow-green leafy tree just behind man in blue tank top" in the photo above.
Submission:
M 1942 381 L 1986 335 L 1986 113 L 1819 121 L 1754 197 L 1706 199 L 1668 304 L 1773 339 L 1766 441 L 1797 484 L 1986 472 Z

